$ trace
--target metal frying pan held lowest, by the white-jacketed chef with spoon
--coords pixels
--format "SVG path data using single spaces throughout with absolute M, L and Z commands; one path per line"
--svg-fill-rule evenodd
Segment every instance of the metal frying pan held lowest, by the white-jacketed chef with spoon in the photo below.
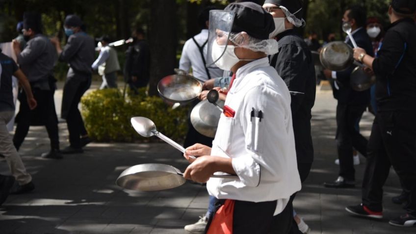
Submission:
M 238 179 L 233 175 L 212 175 L 211 178 Z M 122 188 L 140 191 L 170 189 L 181 186 L 185 182 L 186 180 L 178 168 L 159 163 L 129 167 L 116 180 L 116 184 Z

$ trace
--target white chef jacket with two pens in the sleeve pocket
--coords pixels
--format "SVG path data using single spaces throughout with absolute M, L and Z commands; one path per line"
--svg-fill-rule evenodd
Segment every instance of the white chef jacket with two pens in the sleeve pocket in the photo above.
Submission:
M 289 90 L 265 57 L 237 70 L 225 105 L 235 115 L 221 114 L 211 155 L 231 157 L 239 179 L 210 178 L 208 193 L 218 199 L 277 200 L 276 215 L 301 189 Z

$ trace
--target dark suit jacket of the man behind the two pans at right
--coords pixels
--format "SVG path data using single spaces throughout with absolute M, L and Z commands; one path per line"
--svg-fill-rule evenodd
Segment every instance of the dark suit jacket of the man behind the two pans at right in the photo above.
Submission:
M 368 55 L 373 56 L 373 46 L 371 39 L 367 35 L 364 28 L 361 28 L 352 36 L 357 43 L 357 46 L 363 48 Z M 352 46 L 351 40 L 348 41 L 348 45 Z M 334 97 L 338 100 L 338 104 L 349 104 L 349 105 L 368 105 L 370 102 L 370 90 L 355 91 L 351 88 L 350 76 L 356 65 L 337 72 L 337 84 L 339 90 L 333 87 Z

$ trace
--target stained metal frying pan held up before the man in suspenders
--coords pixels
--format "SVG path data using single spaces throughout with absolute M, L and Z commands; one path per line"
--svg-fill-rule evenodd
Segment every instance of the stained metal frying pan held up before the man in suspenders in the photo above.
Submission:
M 203 80 L 189 75 L 170 75 L 157 84 L 160 96 L 172 103 L 185 104 L 196 99 L 202 91 Z

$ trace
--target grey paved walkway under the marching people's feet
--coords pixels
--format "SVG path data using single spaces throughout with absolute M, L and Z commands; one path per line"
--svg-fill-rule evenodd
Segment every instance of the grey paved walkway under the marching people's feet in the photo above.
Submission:
M 382 221 L 356 218 L 344 210 L 360 202 L 364 163 L 356 167 L 358 188 L 322 186 L 335 180 L 338 173 L 334 164 L 335 106 L 331 92 L 318 92 L 312 121 L 315 161 L 295 200 L 296 211 L 312 228 L 311 234 L 416 233 L 415 228 L 388 224 L 389 218 L 403 213 L 400 206 L 391 203 L 391 197 L 401 192 L 393 170 L 384 190 L 386 219 Z M 363 116 L 361 131 L 365 136 L 372 119 L 371 114 Z M 68 145 L 66 125 L 59 124 L 59 129 L 63 148 Z M 48 150 L 45 129 L 31 127 L 20 153 L 36 189 L 9 196 L 0 208 L 0 234 L 184 234 L 183 226 L 206 212 L 208 195 L 198 184 L 188 182 L 160 192 L 122 190 L 114 184 L 125 168 L 135 164 L 165 163 L 184 170 L 187 162 L 167 144 L 91 143 L 84 154 L 62 160 L 41 158 Z M 0 173 L 9 174 L 4 160 Z

